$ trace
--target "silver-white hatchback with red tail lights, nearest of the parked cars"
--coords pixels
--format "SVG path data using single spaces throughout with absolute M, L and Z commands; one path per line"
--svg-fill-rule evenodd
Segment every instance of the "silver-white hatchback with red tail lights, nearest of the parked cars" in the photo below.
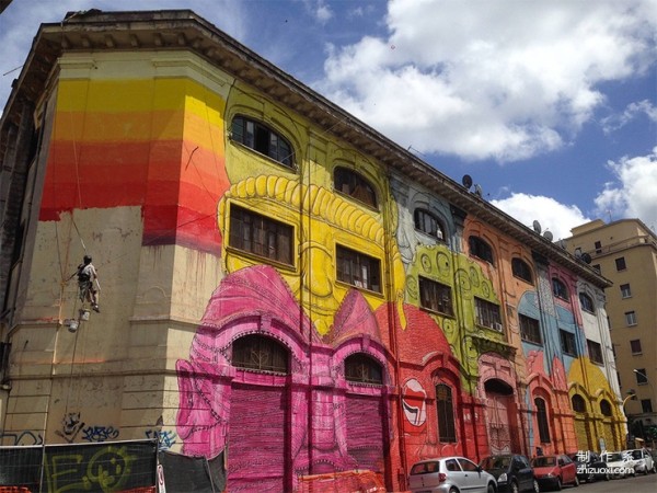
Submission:
M 416 462 L 408 477 L 412 493 L 495 493 L 497 482 L 464 457 L 437 457 Z

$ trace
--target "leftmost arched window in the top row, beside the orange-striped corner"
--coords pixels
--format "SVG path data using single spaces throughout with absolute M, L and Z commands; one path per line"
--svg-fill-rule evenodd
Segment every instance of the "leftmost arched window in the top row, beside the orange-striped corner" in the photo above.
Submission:
M 231 139 L 288 168 L 293 167 L 292 146 L 266 125 L 244 116 L 235 116 L 231 126 Z

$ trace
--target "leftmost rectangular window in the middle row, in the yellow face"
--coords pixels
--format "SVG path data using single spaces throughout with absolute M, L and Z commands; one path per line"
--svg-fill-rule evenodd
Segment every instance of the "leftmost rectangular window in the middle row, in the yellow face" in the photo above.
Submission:
M 293 228 L 237 205 L 230 208 L 232 248 L 292 265 Z

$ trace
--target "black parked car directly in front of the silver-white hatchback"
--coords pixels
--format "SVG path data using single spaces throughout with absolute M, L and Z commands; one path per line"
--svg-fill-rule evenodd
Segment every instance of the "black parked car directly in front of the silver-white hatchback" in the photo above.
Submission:
M 499 493 L 532 491 L 539 493 L 539 482 L 534 478 L 529 459 L 517 454 L 486 457 L 480 467 L 497 480 Z

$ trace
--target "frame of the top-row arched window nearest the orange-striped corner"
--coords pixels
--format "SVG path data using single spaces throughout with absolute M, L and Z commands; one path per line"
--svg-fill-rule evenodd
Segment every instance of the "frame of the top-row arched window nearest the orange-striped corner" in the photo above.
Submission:
M 235 129 L 238 121 L 242 122 L 242 128 L 240 131 L 237 131 Z M 247 129 L 250 124 L 253 126 L 251 138 L 249 138 L 250 133 Z M 263 133 L 266 133 L 266 136 Z M 273 137 L 276 137 L 275 150 L 272 148 Z M 234 115 L 230 124 L 230 139 L 231 141 L 239 144 L 240 146 L 243 146 L 253 152 L 257 152 L 260 156 L 264 156 L 265 158 L 270 159 L 272 161 L 275 161 L 285 168 L 296 170 L 296 153 L 291 141 L 280 131 L 260 119 L 243 114 Z M 264 149 L 264 146 L 267 148 Z M 287 147 L 287 149 L 281 149 L 281 147 Z M 284 156 L 280 157 L 280 153 Z

